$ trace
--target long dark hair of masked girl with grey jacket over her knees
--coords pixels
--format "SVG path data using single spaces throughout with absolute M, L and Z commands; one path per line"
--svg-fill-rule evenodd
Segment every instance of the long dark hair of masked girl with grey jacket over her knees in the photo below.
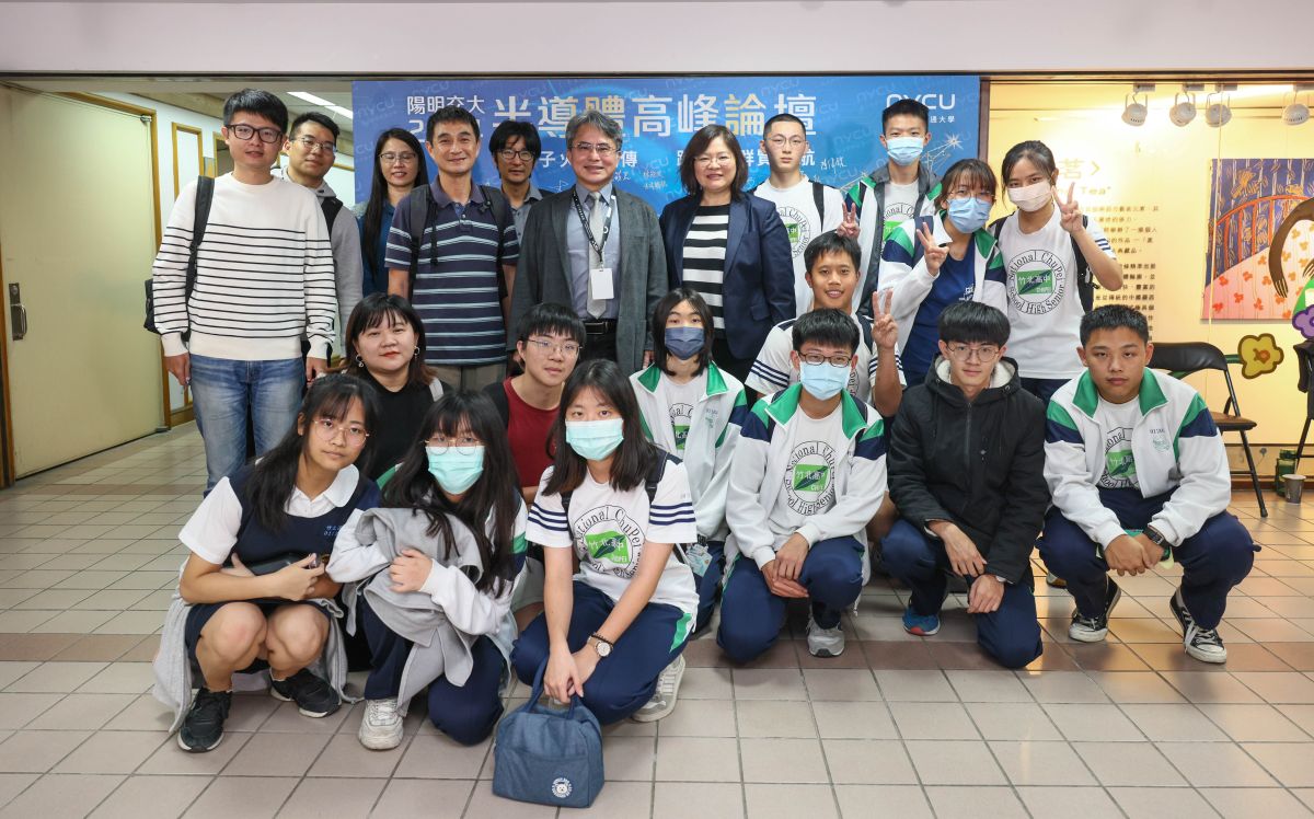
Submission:
M 465 490 L 461 500 L 452 503 L 438 480 L 428 471 L 424 442 L 435 434 L 447 438 L 461 427 L 484 442 L 484 473 Z M 515 576 L 515 517 L 520 510 L 520 486 L 516 481 L 515 461 L 493 401 L 484 393 L 456 390 L 443 396 L 424 413 L 420 438 L 411 444 L 406 459 L 397 467 L 397 475 L 384 486 L 384 506 L 414 509 L 428 518 L 426 535 L 443 542 L 447 557 L 452 553 L 456 518 L 474 535 L 484 571 L 474 580 L 474 588 L 491 589 L 501 594 L 502 584 Z M 491 522 L 493 534 L 486 531 Z

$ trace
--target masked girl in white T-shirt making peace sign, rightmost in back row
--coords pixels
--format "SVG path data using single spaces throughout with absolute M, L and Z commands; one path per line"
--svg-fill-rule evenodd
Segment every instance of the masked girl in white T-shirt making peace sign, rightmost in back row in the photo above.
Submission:
M 1081 375 L 1079 330 L 1081 268 L 1100 287 L 1122 287 L 1122 266 L 1113 255 L 1100 223 L 1081 213 L 1080 204 L 1059 199 L 1059 170 L 1043 142 L 1020 142 L 1004 155 L 1001 168 L 1008 199 L 1017 212 L 991 226 L 999 237 L 1008 271 L 1009 347 L 1021 368 L 1022 389 L 1041 401 Z

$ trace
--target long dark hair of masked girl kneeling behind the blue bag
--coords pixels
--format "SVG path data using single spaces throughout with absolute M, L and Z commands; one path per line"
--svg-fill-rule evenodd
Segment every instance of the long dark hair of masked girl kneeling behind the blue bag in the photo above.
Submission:
M 620 372 L 615 362 L 594 359 L 581 362 L 570 377 L 566 379 L 565 389 L 561 393 L 561 411 L 552 423 L 552 443 L 556 455 L 552 461 L 552 477 L 543 488 L 547 494 L 560 494 L 561 492 L 574 492 L 583 482 L 587 461 L 576 454 L 566 443 L 566 414 L 570 405 L 585 389 L 595 389 L 607 400 L 622 419 L 622 434 L 624 438 L 616 447 L 615 457 L 611 461 L 611 488 L 618 492 L 628 492 L 639 486 L 648 477 L 654 459 L 658 457 L 657 447 L 648 443 L 644 436 L 643 422 L 639 415 L 639 401 L 635 400 L 635 389 Z

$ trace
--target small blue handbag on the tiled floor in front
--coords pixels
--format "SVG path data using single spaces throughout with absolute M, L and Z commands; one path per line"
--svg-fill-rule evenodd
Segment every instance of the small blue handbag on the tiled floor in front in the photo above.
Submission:
M 570 698 L 565 710 L 539 705 L 543 672 L 530 701 L 502 719 L 493 747 L 493 793 L 519 802 L 589 807 L 602 791 L 602 728 L 593 711 Z

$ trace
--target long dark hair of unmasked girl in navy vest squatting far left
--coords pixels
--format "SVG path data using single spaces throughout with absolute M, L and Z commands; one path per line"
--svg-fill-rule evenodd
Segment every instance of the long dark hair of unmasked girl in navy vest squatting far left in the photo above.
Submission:
M 254 505 L 256 522 L 273 534 L 283 531 L 288 523 L 288 500 L 297 484 L 297 468 L 306 440 L 313 434 L 310 427 L 318 418 L 332 418 L 342 422 L 351 410 L 351 402 L 360 401 L 365 413 L 365 430 L 373 431 L 378 419 L 378 398 L 374 390 L 360 379 L 340 375 L 315 379 L 297 411 L 297 422 L 272 450 L 251 467 L 246 496 Z M 298 430 L 300 427 L 300 430 Z M 365 472 L 369 465 L 369 446 L 356 457 L 356 468 Z M 346 468 L 346 467 L 344 467 Z

